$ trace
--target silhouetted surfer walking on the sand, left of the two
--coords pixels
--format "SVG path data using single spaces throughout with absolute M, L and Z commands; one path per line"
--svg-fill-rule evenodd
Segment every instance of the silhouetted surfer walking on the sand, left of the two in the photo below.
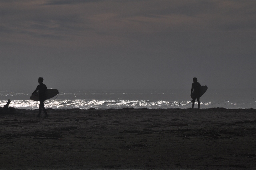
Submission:
M 48 114 L 46 112 L 46 109 L 44 108 L 44 101 L 46 100 L 46 90 L 47 90 L 47 87 L 46 87 L 45 84 L 43 84 L 43 81 L 44 81 L 44 79 L 42 77 L 38 78 L 39 85 L 36 87 L 36 90 L 32 93 L 32 95 L 34 93 L 36 93 L 37 90 L 38 90 L 40 103 L 39 103 L 39 113 L 38 113 L 37 117 L 40 117 L 40 114 L 41 114 L 42 109 L 43 109 L 43 111 L 45 113 L 44 117 L 47 118 Z

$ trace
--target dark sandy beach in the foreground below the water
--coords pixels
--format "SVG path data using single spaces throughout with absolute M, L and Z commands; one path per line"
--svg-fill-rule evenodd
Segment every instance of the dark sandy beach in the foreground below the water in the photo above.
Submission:
M 254 109 L 16 111 L 0 169 L 256 169 Z

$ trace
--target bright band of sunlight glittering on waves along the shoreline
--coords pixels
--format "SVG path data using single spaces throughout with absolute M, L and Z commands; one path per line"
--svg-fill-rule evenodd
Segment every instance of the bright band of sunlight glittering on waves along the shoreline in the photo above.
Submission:
M 0 100 L 0 106 L 6 104 L 5 100 Z M 12 100 L 11 107 L 20 109 L 38 109 L 39 102 L 33 100 Z M 46 108 L 53 109 L 122 109 L 125 107 L 129 108 L 191 108 L 192 103 L 190 101 L 156 101 L 152 102 L 149 100 L 46 100 Z M 244 106 L 244 103 L 243 103 Z M 224 108 L 243 108 L 236 103 L 230 101 L 223 102 L 201 102 L 201 108 L 213 108 L 213 107 L 224 107 Z M 248 104 L 251 107 L 251 104 Z M 195 104 L 197 108 L 197 103 Z

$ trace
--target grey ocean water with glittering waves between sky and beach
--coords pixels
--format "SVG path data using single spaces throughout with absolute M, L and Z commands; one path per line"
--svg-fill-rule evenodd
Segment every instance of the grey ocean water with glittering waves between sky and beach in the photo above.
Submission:
M 29 100 L 33 90 L 0 90 L 0 106 L 38 109 L 39 102 Z M 46 100 L 53 109 L 191 108 L 190 89 L 183 90 L 59 90 L 58 97 Z M 200 108 L 256 108 L 256 89 L 214 89 L 208 87 L 200 98 Z M 197 103 L 195 104 L 197 108 Z

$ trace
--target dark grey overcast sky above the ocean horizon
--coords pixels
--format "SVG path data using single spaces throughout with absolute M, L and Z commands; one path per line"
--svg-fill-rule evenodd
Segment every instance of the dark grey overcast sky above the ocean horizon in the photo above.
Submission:
M 0 90 L 256 87 L 254 0 L 0 0 Z

